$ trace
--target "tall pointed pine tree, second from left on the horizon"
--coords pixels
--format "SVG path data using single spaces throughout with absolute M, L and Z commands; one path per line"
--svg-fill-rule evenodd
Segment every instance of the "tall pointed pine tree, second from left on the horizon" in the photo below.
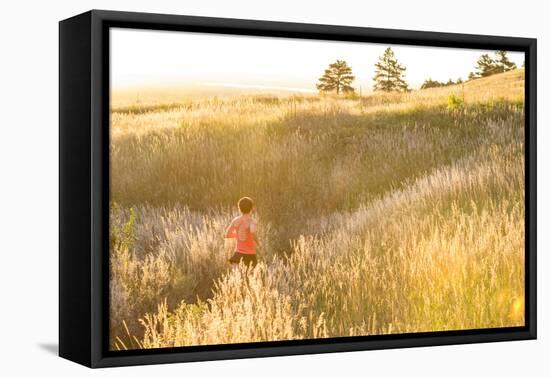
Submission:
M 409 86 L 405 81 L 406 68 L 399 64 L 390 47 L 384 51 L 384 54 L 374 66 L 376 67 L 373 78 L 375 91 L 406 92 L 409 90 Z

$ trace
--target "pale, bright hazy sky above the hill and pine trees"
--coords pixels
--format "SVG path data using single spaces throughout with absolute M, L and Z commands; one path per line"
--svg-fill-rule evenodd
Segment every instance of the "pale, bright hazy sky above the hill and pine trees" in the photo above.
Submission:
M 363 42 L 314 41 L 172 31 L 111 29 L 111 83 L 114 88 L 183 83 L 208 87 L 316 92 L 325 68 L 344 59 L 353 86 L 371 90 L 374 64 L 386 47 L 407 67 L 413 88 L 434 80 L 466 79 L 479 56 L 493 51 L 416 47 Z M 521 66 L 523 53 L 510 52 Z

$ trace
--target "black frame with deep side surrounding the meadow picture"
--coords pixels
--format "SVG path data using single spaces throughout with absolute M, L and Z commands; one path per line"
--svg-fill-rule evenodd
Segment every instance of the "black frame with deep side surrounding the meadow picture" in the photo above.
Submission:
M 524 327 L 108 350 L 111 27 L 525 53 Z M 536 39 L 92 10 L 59 23 L 59 355 L 88 367 L 536 338 Z

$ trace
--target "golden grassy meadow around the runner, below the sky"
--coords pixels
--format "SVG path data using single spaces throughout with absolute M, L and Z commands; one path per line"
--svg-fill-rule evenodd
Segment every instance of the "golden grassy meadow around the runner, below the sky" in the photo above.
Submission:
M 162 93 L 113 93 L 112 349 L 524 324 L 522 69 L 363 97 Z M 223 239 L 245 195 L 252 271 Z

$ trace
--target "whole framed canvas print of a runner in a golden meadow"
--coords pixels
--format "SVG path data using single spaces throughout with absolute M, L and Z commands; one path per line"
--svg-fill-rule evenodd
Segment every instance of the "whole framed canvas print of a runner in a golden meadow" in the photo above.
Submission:
M 536 338 L 536 40 L 60 22 L 59 352 Z

